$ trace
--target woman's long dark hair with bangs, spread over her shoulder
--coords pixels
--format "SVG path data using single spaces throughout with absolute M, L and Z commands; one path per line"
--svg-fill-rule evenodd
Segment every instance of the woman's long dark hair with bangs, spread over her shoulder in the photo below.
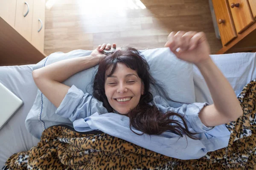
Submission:
M 144 84 L 144 94 L 140 97 L 139 104 L 137 107 L 128 112 L 130 129 L 131 127 L 134 127 L 143 132 L 142 134 L 138 134 L 131 129 L 134 133 L 137 135 L 143 135 L 144 133 L 148 135 L 160 135 L 166 130 L 170 130 L 181 137 L 183 137 L 183 134 L 186 134 L 192 139 L 198 139 L 195 136 L 192 136 L 198 133 L 189 132 L 185 119 L 180 116 L 179 113 L 171 111 L 162 113 L 155 105 L 148 104 L 153 100 L 153 95 L 149 92 L 150 85 L 153 85 L 157 94 L 163 98 L 170 101 L 174 100 L 169 98 L 166 90 L 163 88 L 163 85 L 157 83 L 159 81 L 151 76 L 149 73 L 150 68 L 148 62 L 140 51 L 135 48 L 126 47 L 122 50 L 117 50 L 113 54 L 105 57 L 99 63 L 99 68 L 93 81 L 93 96 L 99 101 L 103 102 L 103 106 L 108 110 L 108 112 L 113 112 L 113 108 L 109 104 L 105 94 L 105 77 L 111 76 L 114 73 L 117 63 L 123 63 L 128 68 L 137 71 L 138 76 Z M 108 73 L 108 75 L 105 75 L 106 71 L 110 67 L 111 71 Z M 180 125 L 179 121 L 170 119 L 170 116 L 180 117 L 185 128 Z

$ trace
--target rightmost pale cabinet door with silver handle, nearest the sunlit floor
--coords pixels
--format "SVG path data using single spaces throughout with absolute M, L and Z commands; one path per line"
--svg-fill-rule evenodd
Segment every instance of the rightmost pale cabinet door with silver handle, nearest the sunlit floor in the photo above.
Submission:
M 31 43 L 44 53 L 45 0 L 35 0 Z

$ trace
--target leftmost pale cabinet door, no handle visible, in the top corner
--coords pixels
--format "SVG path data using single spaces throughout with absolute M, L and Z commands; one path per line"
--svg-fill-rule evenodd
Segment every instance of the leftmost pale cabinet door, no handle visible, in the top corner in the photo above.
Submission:
M 0 17 L 12 27 L 14 27 L 15 24 L 16 1 L 17 0 L 0 1 Z

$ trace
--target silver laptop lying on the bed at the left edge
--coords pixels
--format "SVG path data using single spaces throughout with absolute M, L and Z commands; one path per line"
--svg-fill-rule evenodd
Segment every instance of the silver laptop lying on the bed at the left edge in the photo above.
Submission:
M 0 129 L 23 105 L 23 101 L 0 82 Z

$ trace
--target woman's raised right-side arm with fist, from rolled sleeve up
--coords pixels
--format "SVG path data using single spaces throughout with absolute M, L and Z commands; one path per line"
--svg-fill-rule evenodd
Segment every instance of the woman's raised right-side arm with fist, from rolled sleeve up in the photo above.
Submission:
M 210 47 L 203 32 L 171 32 L 165 46 L 179 59 L 195 64 L 205 78 L 214 104 L 204 107 L 198 115 L 204 125 L 222 125 L 243 114 L 233 88 L 209 56 Z

